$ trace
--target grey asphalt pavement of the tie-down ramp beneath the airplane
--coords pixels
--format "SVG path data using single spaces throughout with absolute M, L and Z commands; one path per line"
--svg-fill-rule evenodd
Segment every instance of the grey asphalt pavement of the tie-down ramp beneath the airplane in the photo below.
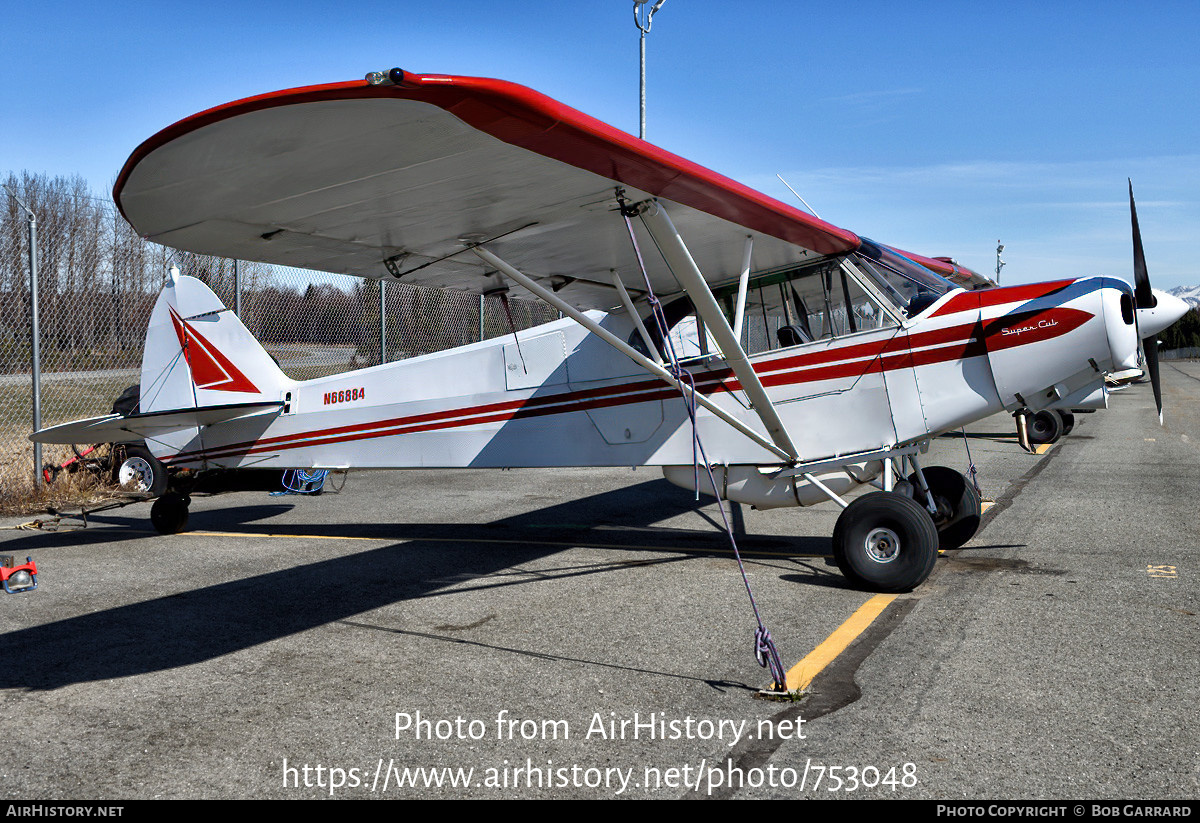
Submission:
M 712 500 L 653 469 L 352 473 L 0 525 L 10 798 L 1195 798 L 1200 364 L 1043 455 L 967 449 L 983 530 L 764 699 Z M 785 667 L 872 602 L 838 510 L 732 511 Z

